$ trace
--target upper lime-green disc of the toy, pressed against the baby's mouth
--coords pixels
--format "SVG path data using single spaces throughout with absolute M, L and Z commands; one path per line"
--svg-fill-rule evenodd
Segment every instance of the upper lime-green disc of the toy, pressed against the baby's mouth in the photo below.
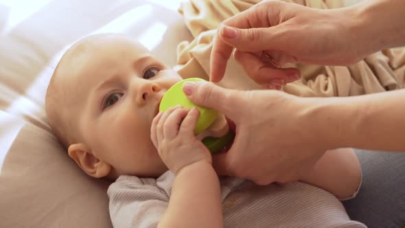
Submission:
M 205 81 L 201 78 L 187 78 L 185 80 L 181 80 L 174 84 L 170 89 L 168 89 L 163 95 L 161 100 L 161 104 L 159 106 L 159 111 L 164 112 L 167 109 L 170 109 L 173 106 L 180 104 L 185 108 L 192 109 L 196 107 L 198 111 L 200 111 L 200 116 L 198 117 L 196 129 L 194 130 L 194 134 L 198 134 L 203 132 L 203 130 L 207 129 L 216 119 L 217 111 L 213 109 L 208 109 L 202 106 L 198 106 L 194 104 L 192 101 L 188 100 L 188 98 L 183 93 L 183 84 L 187 81 Z

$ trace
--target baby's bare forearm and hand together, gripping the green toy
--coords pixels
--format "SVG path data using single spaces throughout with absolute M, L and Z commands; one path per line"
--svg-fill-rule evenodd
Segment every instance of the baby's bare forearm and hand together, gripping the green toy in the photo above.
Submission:
M 211 154 L 194 136 L 198 110 L 174 107 L 152 122 L 151 138 L 175 175 L 159 227 L 222 227 L 220 183 Z

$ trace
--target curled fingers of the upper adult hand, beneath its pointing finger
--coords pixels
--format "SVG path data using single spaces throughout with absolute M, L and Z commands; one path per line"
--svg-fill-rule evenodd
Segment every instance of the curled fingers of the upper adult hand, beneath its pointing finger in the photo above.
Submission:
M 258 84 L 282 84 L 297 80 L 301 73 L 295 68 L 277 68 L 271 58 L 265 60 L 263 56 L 257 56 L 250 52 L 235 50 L 233 58 L 244 68 L 244 71 Z

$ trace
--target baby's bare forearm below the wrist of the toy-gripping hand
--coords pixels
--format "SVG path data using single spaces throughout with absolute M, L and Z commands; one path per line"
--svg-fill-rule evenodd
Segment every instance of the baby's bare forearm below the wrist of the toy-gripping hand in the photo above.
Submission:
M 198 161 L 176 174 L 159 227 L 222 227 L 220 185 L 211 164 Z

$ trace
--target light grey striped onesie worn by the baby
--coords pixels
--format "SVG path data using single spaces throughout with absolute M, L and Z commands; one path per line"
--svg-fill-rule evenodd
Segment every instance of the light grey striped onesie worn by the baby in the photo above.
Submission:
M 157 227 L 169 203 L 174 174 L 158 179 L 119 176 L 108 187 L 114 227 Z M 329 192 L 294 182 L 256 185 L 221 177 L 224 227 L 366 227 L 350 220 L 340 201 Z

